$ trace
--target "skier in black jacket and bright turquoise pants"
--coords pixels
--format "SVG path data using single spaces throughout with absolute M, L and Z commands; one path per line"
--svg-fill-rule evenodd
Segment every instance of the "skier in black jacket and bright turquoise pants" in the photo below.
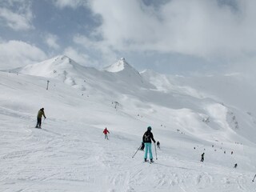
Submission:
M 147 152 L 149 152 L 149 154 L 150 154 L 150 162 L 154 162 L 153 161 L 152 150 L 151 150 L 151 140 L 154 143 L 155 143 L 155 141 L 154 141 L 154 136 L 151 133 L 151 130 L 152 130 L 151 126 L 148 126 L 145 134 L 143 134 L 143 137 L 142 137 L 142 140 L 143 140 L 143 142 L 145 144 L 145 148 L 146 148 L 145 154 L 144 154 L 145 162 L 146 162 L 146 158 L 147 158 Z

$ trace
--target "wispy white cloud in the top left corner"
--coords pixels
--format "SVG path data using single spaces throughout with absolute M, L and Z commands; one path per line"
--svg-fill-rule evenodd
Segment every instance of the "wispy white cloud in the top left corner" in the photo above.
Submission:
M 14 8 L 14 4 L 18 8 Z M 0 22 L 4 22 L 13 30 L 31 30 L 33 14 L 30 9 L 30 1 L 8 1 L 0 3 Z

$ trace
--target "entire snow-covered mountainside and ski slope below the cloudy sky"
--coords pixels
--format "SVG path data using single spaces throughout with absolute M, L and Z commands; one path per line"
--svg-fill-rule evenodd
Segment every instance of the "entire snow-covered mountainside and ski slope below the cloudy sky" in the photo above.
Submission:
M 256 191 L 254 101 L 228 99 L 256 96 L 244 84 L 139 74 L 124 58 L 105 70 L 58 56 L 2 71 L 0 191 Z M 147 126 L 161 143 L 152 164 L 138 150 Z

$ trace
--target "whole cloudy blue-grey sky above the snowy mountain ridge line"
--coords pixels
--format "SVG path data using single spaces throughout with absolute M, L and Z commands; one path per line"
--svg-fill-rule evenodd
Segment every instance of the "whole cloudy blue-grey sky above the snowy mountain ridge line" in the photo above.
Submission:
M 256 61 L 254 0 L 2 0 L 0 69 L 59 54 L 102 69 L 234 72 Z M 255 70 L 253 70 L 255 72 Z

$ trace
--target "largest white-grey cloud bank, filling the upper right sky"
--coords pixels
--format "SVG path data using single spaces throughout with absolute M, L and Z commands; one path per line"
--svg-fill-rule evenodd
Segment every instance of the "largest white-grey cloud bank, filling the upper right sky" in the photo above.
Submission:
M 256 1 L 232 3 L 172 0 L 156 8 L 138 0 L 92 0 L 90 8 L 102 16 L 104 44 L 115 50 L 235 59 L 256 53 Z

